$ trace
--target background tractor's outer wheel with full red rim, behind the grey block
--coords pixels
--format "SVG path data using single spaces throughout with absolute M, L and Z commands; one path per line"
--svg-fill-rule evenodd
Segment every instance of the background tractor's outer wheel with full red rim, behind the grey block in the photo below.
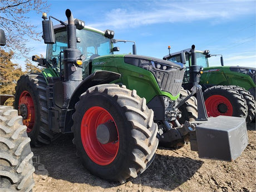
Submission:
M 246 101 L 237 90 L 227 86 L 213 86 L 203 92 L 209 117 L 219 115 L 247 118 Z

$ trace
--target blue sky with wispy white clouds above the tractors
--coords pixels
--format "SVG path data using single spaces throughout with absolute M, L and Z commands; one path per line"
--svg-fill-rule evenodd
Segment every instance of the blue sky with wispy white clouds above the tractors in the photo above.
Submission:
M 137 54 L 163 58 L 171 52 L 196 46 L 222 54 L 224 65 L 256 66 L 256 1 L 48 1 L 48 16 L 66 21 L 65 11 L 102 31 L 112 29 L 115 38 L 136 41 Z M 43 10 L 42 10 L 43 12 Z M 30 21 L 42 31 L 41 15 Z M 57 22 L 54 22 L 57 24 Z M 46 46 L 29 41 L 32 55 L 45 55 Z M 131 43 L 119 43 L 129 53 Z M 21 63 L 21 61 L 19 61 Z M 219 57 L 210 65 L 220 65 Z

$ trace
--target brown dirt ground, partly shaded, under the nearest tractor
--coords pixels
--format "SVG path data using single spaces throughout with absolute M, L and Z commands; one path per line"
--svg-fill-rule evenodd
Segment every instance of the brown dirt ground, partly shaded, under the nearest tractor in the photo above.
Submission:
M 72 135 L 32 148 L 47 171 L 34 173 L 34 192 L 42 191 L 256 191 L 256 130 L 248 126 L 249 145 L 233 162 L 199 159 L 190 145 L 157 149 L 151 166 L 127 183 L 110 183 L 91 175 L 76 157 Z

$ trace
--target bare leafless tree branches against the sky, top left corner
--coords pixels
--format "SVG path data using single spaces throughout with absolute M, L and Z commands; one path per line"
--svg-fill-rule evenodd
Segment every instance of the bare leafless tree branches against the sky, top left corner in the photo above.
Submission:
M 7 36 L 6 50 L 26 57 L 32 47 L 27 46 L 28 39 L 41 40 L 41 33 L 29 22 L 29 14 L 48 11 L 46 0 L 0 0 L 0 28 Z M 38 24 L 41 23 L 38 21 Z

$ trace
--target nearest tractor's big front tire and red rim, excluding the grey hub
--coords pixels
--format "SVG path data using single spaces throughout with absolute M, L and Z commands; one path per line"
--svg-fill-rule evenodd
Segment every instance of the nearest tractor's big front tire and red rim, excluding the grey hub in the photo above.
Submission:
M 75 109 L 74 143 L 82 164 L 92 174 L 125 183 L 154 159 L 158 145 L 154 112 L 135 90 L 115 84 L 94 86 L 81 95 Z M 97 127 L 107 124 L 115 136 L 102 144 Z

